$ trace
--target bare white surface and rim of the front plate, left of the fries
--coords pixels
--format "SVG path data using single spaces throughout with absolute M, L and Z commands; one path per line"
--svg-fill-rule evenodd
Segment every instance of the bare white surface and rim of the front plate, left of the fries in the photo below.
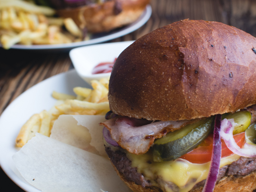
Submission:
M 15 138 L 21 126 L 35 113 L 49 110 L 56 102 L 52 91 L 74 94 L 75 86 L 89 87 L 75 70 L 50 77 L 28 89 L 17 97 L 0 116 L 0 165 L 4 172 L 23 190 L 40 192 L 22 178 L 12 156 L 18 151 Z

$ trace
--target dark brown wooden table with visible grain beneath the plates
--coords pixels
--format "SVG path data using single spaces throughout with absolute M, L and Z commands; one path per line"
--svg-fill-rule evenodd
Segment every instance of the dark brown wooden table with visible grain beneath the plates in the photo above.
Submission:
M 256 36 L 254 0 L 151 0 L 152 16 L 131 34 L 109 42 L 136 40 L 140 36 L 182 19 L 219 21 Z M 0 49 L 0 115 L 22 92 L 44 79 L 73 68 L 68 52 Z M 14 141 L 13 141 L 14 142 Z M 1 170 L 1 188 L 23 191 Z

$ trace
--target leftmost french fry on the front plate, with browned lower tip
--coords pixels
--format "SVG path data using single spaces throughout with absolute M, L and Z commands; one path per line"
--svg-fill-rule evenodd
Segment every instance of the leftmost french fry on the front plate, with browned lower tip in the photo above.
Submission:
M 39 114 L 31 116 L 28 121 L 21 127 L 19 135 L 16 138 L 16 146 L 22 147 L 28 140 L 35 136 L 41 125 L 41 117 Z

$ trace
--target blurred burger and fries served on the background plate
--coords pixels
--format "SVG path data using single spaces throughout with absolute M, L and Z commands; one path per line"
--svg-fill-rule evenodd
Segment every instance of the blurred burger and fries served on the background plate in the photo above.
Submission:
M 1 0 L 0 42 L 64 44 L 136 21 L 150 0 Z

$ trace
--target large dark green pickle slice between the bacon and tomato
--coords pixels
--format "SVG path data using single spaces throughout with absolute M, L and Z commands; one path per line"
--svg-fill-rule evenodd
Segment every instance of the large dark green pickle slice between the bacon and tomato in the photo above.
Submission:
M 196 148 L 213 130 L 213 117 L 186 125 L 155 140 L 152 147 L 155 162 L 171 161 Z

